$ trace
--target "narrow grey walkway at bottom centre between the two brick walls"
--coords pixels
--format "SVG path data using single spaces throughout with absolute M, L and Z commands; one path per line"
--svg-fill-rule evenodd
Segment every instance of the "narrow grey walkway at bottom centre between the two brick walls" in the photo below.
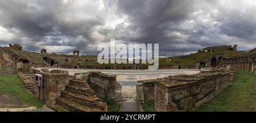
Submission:
M 138 101 L 122 101 L 121 112 L 141 112 Z

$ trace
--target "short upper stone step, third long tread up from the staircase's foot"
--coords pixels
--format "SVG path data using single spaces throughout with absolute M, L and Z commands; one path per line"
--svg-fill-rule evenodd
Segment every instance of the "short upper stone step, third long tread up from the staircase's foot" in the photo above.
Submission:
M 95 95 L 95 92 L 90 90 L 89 87 L 81 87 L 81 86 L 74 86 L 74 85 L 68 84 L 65 90 L 74 92 L 76 94 L 84 95 L 84 96 Z

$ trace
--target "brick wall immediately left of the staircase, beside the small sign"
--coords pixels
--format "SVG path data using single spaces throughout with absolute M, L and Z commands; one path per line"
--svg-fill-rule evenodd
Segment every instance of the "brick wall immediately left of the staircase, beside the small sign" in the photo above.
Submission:
M 72 79 L 67 74 L 55 74 L 40 72 L 43 75 L 43 100 L 51 106 L 56 104 L 56 97 L 60 97 L 60 92 L 65 90 L 65 86 Z M 35 86 L 35 93 L 38 94 L 38 87 Z

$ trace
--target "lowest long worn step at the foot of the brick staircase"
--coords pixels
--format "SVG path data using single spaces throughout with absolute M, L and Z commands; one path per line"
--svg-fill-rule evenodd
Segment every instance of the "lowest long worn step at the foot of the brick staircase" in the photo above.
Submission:
M 101 112 L 100 109 L 86 107 L 75 103 L 71 100 L 65 99 L 64 97 L 56 98 L 57 104 L 71 112 Z

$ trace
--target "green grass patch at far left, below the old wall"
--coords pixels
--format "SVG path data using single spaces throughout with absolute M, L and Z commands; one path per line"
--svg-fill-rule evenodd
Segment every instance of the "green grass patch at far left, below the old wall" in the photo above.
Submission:
M 35 95 L 27 91 L 18 74 L 0 75 L 0 92 L 2 94 L 12 94 L 18 96 L 18 99 L 28 106 L 43 107 L 43 104 Z

